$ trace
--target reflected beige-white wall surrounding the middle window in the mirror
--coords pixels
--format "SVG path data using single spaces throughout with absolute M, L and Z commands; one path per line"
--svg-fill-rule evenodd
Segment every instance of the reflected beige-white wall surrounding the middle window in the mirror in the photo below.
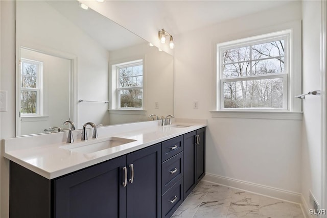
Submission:
M 151 120 L 149 115 L 157 116 L 174 115 L 174 60 L 173 56 L 159 52 L 157 47 L 148 43 L 126 47 L 110 52 L 110 62 L 122 63 L 145 58 L 145 85 L 144 98 L 146 112 L 143 115 L 114 114 L 110 112 L 110 124 L 131 123 L 140 120 Z M 159 108 L 155 108 L 158 102 Z M 116 112 L 117 113 L 117 112 Z

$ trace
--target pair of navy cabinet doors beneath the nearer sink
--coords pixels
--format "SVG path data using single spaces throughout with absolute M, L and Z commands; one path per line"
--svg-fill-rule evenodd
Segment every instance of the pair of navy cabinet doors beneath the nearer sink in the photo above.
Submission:
M 156 144 L 56 179 L 55 217 L 160 217 L 160 181 Z

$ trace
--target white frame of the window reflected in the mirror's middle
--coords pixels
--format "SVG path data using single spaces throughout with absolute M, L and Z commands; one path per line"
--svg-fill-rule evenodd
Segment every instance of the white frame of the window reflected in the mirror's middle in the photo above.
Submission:
M 143 65 L 143 86 L 142 86 L 142 108 L 121 108 L 119 90 L 134 89 L 137 87 L 119 88 L 119 70 L 118 68 L 126 66 L 135 66 L 142 63 Z M 136 56 L 123 60 L 112 61 L 109 64 L 109 113 L 111 114 L 146 114 L 146 64 L 145 56 Z

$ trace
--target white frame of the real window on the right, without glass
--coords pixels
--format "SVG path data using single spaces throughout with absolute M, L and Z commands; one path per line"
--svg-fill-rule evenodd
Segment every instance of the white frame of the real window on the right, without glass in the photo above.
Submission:
M 217 109 L 220 111 L 289 111 L 288 104 L 288 96 L 289 96 L 289 75 L 290 75 L 290 38 L 291 38 L 291 30 L 281 31 L 272 34 L 265 34 L 261 36 L 249 37 L 235 41 L 229 41 L 224 43 L 217 44 L 217 78 L 218 82 L 217 91 L 218 91 L 218 101 L 217 101 Z M 279 74 L 268 74 L 268 75 L 260 75 L 260 76 L 243 76 L 243 77 L 233 77 L 233 78 L 223 78 L 223 52 L 225 50 L 237 49 L 239 47 L 246 47 L 256 44 L 262 44 L 277 40 L 284 40 L 284 73 Z M 273 58 L 263 58 L 260 60 L 273 59 Z M 250 50 L 250 60 L 244 62 L 250 62 L 250 66 L 255 59 L 251 57 Z M 250 67 L 251 70 L 251 67 Z M 232 81 L 253 81 L 258 79 L 274 79 L 274 78 L 283 78 L 283 108 L 224 108 L 224 82 Z

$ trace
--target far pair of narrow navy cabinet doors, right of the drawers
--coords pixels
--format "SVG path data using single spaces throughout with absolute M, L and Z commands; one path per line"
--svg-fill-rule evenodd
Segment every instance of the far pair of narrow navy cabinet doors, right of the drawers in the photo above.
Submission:
M 184 199 L 205 173 L 205 128 L 184 134 Z

